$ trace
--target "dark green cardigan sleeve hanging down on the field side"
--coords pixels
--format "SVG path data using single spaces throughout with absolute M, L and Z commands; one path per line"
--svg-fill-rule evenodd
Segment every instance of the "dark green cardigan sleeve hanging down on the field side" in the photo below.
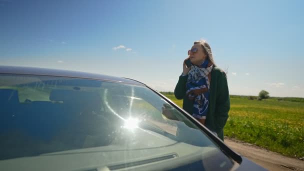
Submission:
M 224 72 L 219 74 L 217 80 L 217 93 L 215 103 L 215 123 L 216 129 L 222 129 L 228 118 L 230 109 L 230 97 L 227 84 L 227 77 Z

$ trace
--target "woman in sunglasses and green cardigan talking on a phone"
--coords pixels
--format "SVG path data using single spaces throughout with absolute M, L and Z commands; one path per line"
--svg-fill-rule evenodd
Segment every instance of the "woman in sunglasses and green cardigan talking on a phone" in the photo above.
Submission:
M 187 67 L 186 60 L 192 65 Z M 183 61 L 182 74 L 174 89 L 182 108 L 223 140 L 223 127 L 230 109 L 225 72 L 213 60 L 211 48 L 205 40 L 195 41 Z

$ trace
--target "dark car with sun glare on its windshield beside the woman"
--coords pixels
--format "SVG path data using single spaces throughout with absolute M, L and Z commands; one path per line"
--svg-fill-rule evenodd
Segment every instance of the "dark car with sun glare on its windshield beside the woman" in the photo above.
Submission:
M 0 66 L 0 170 L 264 170 L 129 78 Z

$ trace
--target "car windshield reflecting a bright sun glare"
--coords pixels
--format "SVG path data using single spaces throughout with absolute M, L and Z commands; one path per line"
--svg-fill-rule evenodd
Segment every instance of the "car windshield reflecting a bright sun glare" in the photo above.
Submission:
M 146 86 L 60 76 L 0 74 L 0 139 L 2 161 L 64 155 L 67 162 L 85 153 L 80 163 L 98 158 L 99 166 L 110 169 L 128 160 L 186 155 L 201 160 L 220 153 L 183 113 Z M 232 165 L 230 159 L 218 160 L 226 162 L 223 168 Z

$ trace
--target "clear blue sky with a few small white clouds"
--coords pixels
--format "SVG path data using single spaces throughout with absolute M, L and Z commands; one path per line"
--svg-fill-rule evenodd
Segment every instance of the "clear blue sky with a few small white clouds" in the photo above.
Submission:
M 304 97 L 302 0 L 0 0 L 0 65 L 130 77 L 172 91 L 206 39 L 230 94 Z

